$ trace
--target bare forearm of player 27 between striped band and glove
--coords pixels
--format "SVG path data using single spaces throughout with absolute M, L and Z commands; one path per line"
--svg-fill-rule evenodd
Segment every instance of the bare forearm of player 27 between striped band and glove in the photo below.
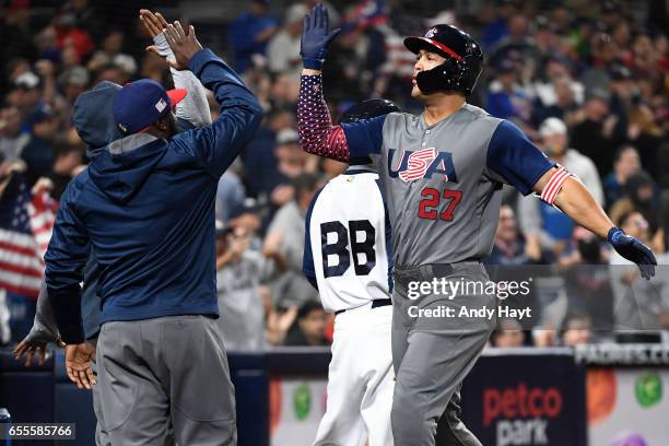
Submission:
M 576 223 L 606 239 L 613 223 L 578 179 L 567 178 L 555 198 L 555 206 Z

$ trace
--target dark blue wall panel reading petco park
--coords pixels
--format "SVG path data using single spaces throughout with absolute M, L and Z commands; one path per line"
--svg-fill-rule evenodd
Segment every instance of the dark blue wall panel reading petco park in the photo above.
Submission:
M 486 446 L 586 445 L 584 367 L 570 350 L 484 352 L 461 396 L 465 424 Z

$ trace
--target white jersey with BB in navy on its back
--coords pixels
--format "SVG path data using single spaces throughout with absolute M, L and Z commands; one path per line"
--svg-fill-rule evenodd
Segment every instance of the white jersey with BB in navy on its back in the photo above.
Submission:
M 390 298 L 390 224 L 379 177 L 352 166 L 331 179 L 306 215 L 303 270 L 326 312 Z

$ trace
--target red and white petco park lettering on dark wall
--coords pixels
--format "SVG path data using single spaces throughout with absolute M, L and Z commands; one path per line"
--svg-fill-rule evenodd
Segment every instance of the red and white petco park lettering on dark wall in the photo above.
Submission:
M 562 394 L 555 387 L 516 388 L 483 391 L 483 425 L 496 421 L 497 446 L 548 445 L 550 419 L 562 412 Z

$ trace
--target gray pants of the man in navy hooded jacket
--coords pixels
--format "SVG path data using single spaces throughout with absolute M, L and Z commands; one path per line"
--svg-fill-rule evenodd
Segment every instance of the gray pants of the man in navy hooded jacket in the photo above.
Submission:
M 113 445 L 237 444 L 234 388 L 214 319 L 106 322 L 96 359 Z

